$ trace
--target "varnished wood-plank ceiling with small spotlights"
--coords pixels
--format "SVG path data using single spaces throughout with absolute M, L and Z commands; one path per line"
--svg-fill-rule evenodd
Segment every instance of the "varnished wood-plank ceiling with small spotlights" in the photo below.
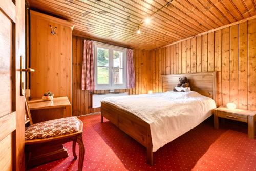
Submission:
M 76 35 L 147 50 L 256 14 L 254 0 L 29 0 L 29 3 L 33 9 L 75 23 Z M 152 20 L 145 24 L 148 16 Z M 138 26 L 140 34 L 136 33 Z

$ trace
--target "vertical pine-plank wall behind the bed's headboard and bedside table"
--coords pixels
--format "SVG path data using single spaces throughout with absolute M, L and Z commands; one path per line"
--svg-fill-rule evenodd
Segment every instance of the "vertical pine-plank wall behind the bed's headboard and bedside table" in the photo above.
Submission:
M 159 71 L 169 67 L 168 63 L 160 59 L 173 61 L 175 54 L 176 61 L 174 65 L 170 65 L 171 73 L 175 70 L 176 73 L 218 71 L 218 106 L 234 102 L 241 109 L 256 110 L 255 39 L 256 19 L 251 19 L 174 45 L 151 50 L 152 90 L 161 92 L 161 83 L 157 80 L 161 74 L 168 74 L 155 72 L 156 67 L 162 67 L 158 68 Z M 167 49 L 167 52 L 159 53 L 164 49 Z

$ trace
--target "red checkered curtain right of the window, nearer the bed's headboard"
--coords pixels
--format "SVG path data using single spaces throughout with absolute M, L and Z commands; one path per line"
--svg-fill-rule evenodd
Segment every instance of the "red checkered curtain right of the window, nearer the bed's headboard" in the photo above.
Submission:
M 132 49 L 127 49 L 127 88 L 135 88 L 135 71 Z

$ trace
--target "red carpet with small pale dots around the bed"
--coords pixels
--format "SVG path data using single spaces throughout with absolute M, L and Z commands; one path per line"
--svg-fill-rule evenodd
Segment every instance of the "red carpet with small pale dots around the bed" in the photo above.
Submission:
M 256 140 L 247 137 L 243 126 L 214 130 L 212 120 L 207 120 L 155 152 L 155 165 L 150 166 L 146 149 L 112 123 L 100 123 L 98 114 L 80 119 L 86 147 L 84 170 L 256 170 Z M 69 157 L 31 170 L 77 170 L 72 144 L 65 147 Z

